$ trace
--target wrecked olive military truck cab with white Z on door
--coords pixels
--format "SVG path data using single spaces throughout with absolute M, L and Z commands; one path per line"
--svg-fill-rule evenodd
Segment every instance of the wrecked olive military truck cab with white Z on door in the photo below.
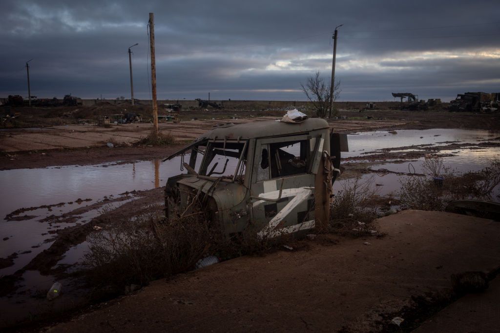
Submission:
M 186 173 L 168 178 L 167 219 L 199 214 L 227 237 L 303 236 L 326 225 L 345 134 L 323 119 L 219 125 L 170 155 Z

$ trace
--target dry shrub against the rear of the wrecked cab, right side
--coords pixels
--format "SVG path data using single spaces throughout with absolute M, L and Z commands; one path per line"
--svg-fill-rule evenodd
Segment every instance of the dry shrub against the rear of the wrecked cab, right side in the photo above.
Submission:
M 368 205 L 377 198 L 373 182 L 371 176 L 366 180 L 356 177 L 342 183 L 330 205 L 332 232 L 346 236 L 374 234 L 371 222 L 377 217 L 377 211 Z

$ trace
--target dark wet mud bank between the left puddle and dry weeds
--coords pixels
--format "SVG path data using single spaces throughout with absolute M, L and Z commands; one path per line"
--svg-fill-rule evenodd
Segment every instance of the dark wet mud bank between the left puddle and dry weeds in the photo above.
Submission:
M 43 245 L 30 249 L 31 257 L 27 261 L 22 259 L 24 253 L 13 253 L 2 259 L 2 264 L 7 263 L 2 268 L 11 273 L 2 270 L 0 278 L 0 327 L 9 327 L 29 318 L 43 320 L 87 305 L 94 297 L 81 279 L 83 254 L 88 249 L 87 237 L 93 232 L 119 228 L 121 223 L 134 216 L 151 212 L 161 214 L 162 190 L 124 193 L 116 199 L 98 201 L 36 222 L 60 228 L 44 233 Z M 20 262 L 15 261 L 18 256 L 22 259 Z M 54 282 L 61 282 L 66 294 L 65 300 L 55 304 L 45 299 Z

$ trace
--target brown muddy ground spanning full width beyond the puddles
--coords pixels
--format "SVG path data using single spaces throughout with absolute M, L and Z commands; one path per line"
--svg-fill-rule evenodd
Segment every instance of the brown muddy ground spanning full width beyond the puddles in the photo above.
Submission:
M 109 111 L 109 110 L 108 110 Z M 116 109 L 115 111 L 118 111 Z M 35 110 L 30 110 L 35 113 Z M 42 109 L 39 112 L 47 112 Z M 90 111 L 89 111 L 90 112 Z M 58 125 L 36 128 L 4 128 L 0 131 L 0 170 L 36 168 L 53 165 L 84 165 L 111 161 L 128 161 L 163 157 L 186 142 L 226 123 L 245 123 L 277 119 L 284 111 L 185 111 L 179 123 L 160 123 L 160 130 L 179 141 L 177 147 L 156 148 L 136 145 L 147 136 L 150 124 L 123 124 L 111 128 L 94 125 Z M 191 112 L 192 114 L 189 114 Z M 196 113 L 193 113 L 196 112 Z M 271 113 L 271 115 L 269 115 Z M 498 114 L 450 113 L 447 111 L 344 110 L 341 118 L 329 121 L 338 132 L 352 133 L 376 129 L 466 128 L 500 130 Z M 49 114 L 50 115 L 50 114 Z M 265 115 L 265 116 L 264 116 Z M 192 118 L 190 118 L 192 116 Z M 198 117 L 194 117 L 198 116 Z M 213 119 L 212 119 L 213 118 Z M 233 119 L 238 118 L 238 119 Z M 370 118 L 370 119 L 367 119 Z M 47 116 L 44 120 L 53 119 Z M 113 148 L 106 146 L 113 143 Z

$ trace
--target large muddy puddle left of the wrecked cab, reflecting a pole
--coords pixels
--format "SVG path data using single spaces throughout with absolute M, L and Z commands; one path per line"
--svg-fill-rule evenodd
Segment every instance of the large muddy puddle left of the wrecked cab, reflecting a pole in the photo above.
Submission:
M 0 276 L 47 249 L 57 230 L 90 221 L 103 207 L 112 210 L 133 200 L 127 192 L 164 185 L 181 172 L 179 161 L 0 171 L 0 257 L 17 254 L 14 265 L 0 269 Z

